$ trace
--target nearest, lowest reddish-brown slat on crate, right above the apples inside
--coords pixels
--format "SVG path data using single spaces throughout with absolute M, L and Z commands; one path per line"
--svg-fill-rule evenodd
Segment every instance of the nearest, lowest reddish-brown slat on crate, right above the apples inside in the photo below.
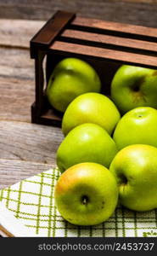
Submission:
M 70 44 L 59 41 L 55 41 L 53 45 L 50 46 L 50 49 L 53 49 L 54 52 L 59 52 L 63 55 L 67 55 L 67 53 L 69 53 L 71 56 L 84 55 L 93 57 L 98 60 L 115 61 L 141 67 L 156 68 L 157 66 L 157 58 L 154 56 L 138 55 L 120 50 L 103 49 L 98 47 L 81 44 Z

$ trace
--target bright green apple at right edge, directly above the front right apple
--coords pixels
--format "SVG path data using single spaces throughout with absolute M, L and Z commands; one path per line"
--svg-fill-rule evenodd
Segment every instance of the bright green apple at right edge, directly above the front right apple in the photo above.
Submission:
M 130 110 L 116 125 L 113 138 L 118 149 L 131 144 L 157 147 L 157 110 L 149 107 Z

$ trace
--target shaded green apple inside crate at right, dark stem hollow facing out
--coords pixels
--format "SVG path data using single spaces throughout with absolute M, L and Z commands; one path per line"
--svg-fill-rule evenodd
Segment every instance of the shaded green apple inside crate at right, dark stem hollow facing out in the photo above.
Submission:
M 123 65 L 111 83 L 111 99 L 126 113 L 132 108 L 157 108 L 157 70 Z

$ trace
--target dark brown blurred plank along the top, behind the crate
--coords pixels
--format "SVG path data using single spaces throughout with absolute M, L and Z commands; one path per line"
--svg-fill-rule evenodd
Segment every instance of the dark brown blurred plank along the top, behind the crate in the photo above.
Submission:
M 0 17 L 7 19 L 48 20 L 59 9 L 97 19 L 156 27 L 156 0 L 0 0 Z

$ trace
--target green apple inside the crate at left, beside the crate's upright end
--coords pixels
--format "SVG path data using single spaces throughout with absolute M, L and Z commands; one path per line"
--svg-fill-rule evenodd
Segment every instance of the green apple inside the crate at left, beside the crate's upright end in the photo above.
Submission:
M 99 92 L 98 73 L 87 62 L 66 58 L 54 68 L 48 81 L 47 96 L 53 108 L 64 112 L 76 96 L 88 91 Z

